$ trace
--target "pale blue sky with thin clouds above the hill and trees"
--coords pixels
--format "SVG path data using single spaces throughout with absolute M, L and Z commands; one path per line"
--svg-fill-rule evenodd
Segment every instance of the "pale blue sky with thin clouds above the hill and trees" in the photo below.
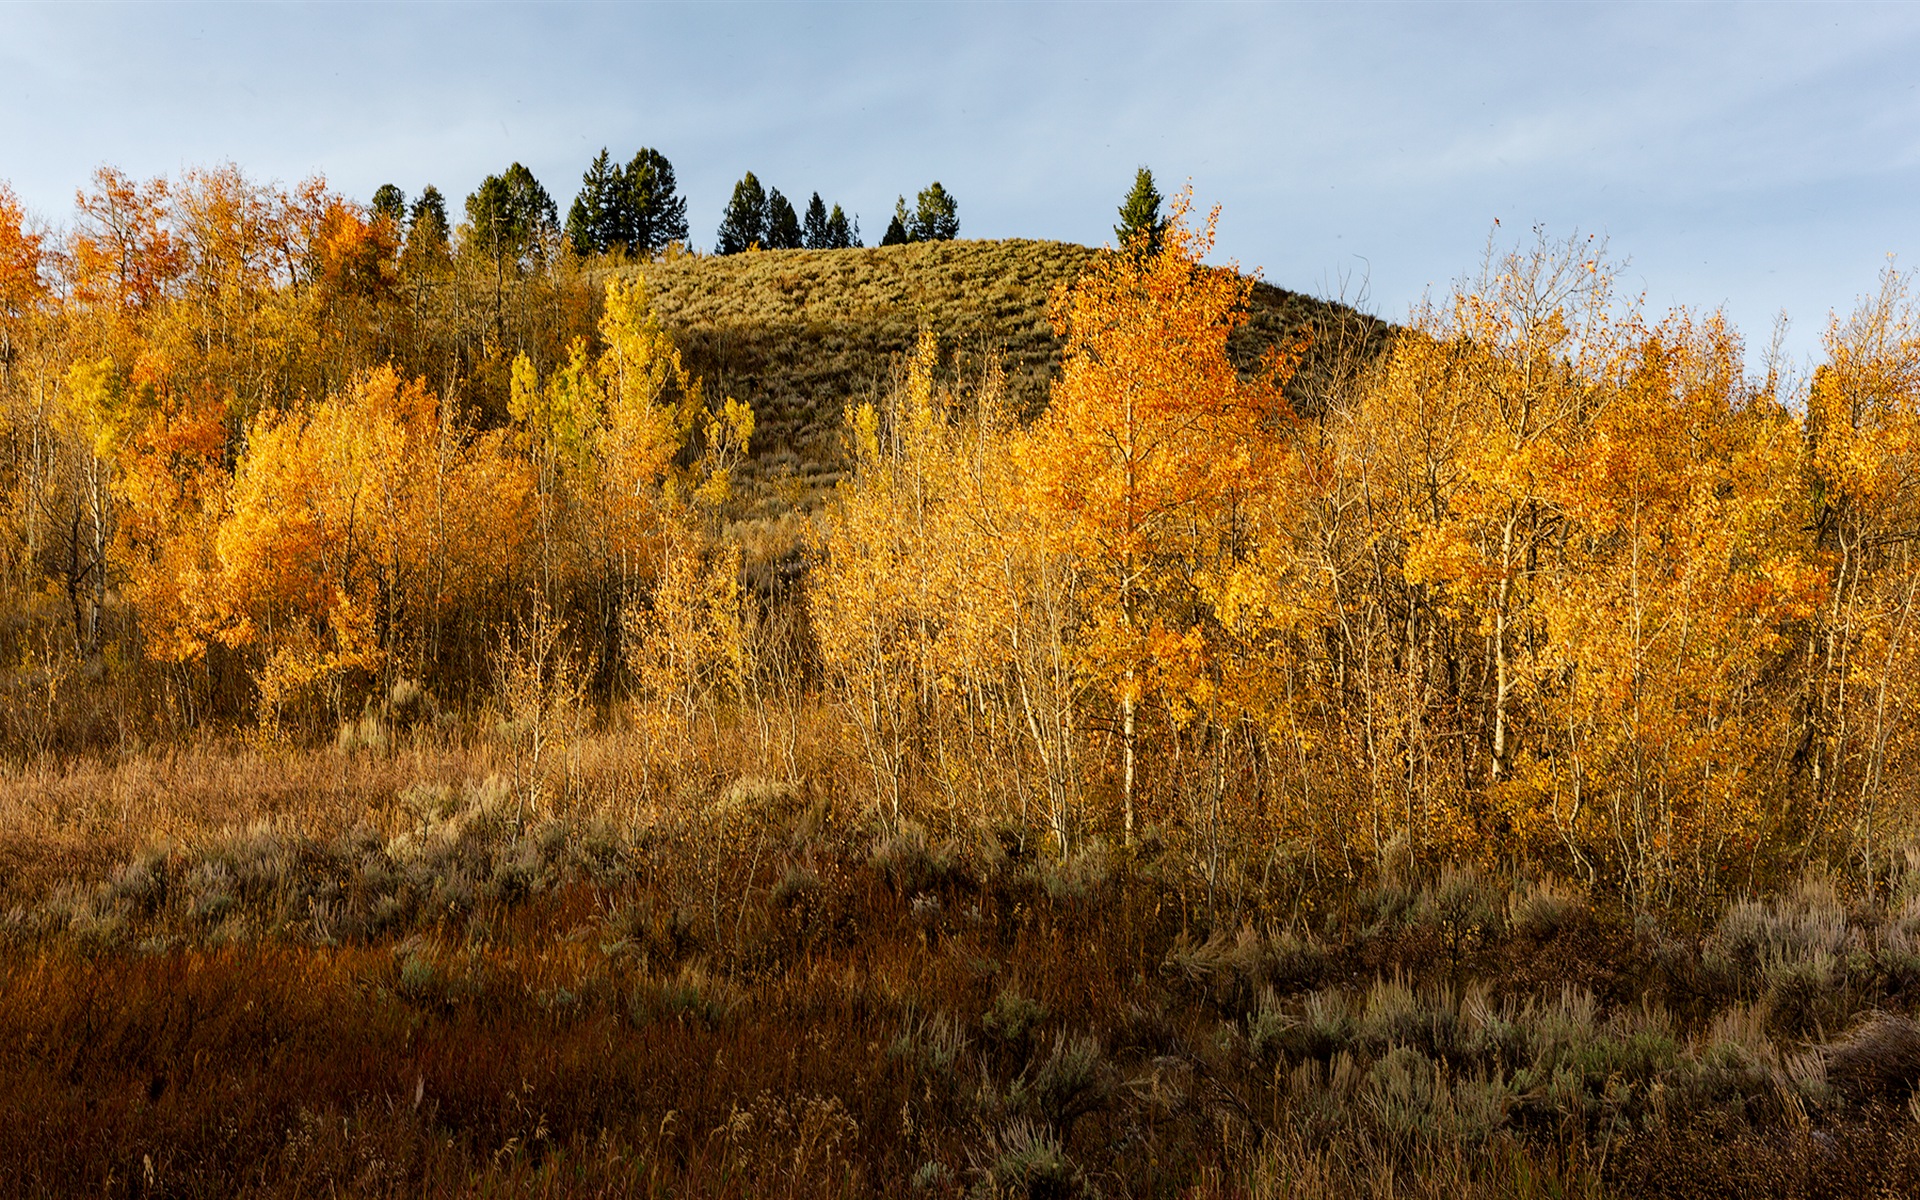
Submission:
M 50 225 L 100 165 L 228 161 L 457 213 L 520 161 L 564 215 L 653 146 L 697 246 L 745 171 L 870 244 L 935 179 L 962 236 L 1102 244 L 1146 165 L 1283 288 L 1400 319 L 1544 227 L 1807 361 L 1920 265 L 1916 63 L 1920 4 L 0 0 L 0 180 Z

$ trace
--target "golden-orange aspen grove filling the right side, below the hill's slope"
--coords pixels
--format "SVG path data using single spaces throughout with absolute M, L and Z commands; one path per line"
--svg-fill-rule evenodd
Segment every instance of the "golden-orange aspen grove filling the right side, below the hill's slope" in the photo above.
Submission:
M 1039 420 L 995 420 L 991 380 L 929 399 L 925 346 L 897 411 L 851 415 L 812 603 L 889 803 L 991 730 L 975 810 L 1071 795 L 1062 847 L 1144 829 L 1210 885 L 1275 843 L 1551 862 L 1636 902 L 1887 870 L 1903 280 L 1799 399 L 1722 317 L 1651 319 L 1592 242 L 1540 244 L 1306 413 L 1288 359 L 1231 361 L 1246 284 L 1208 230 L 1060 298 Z

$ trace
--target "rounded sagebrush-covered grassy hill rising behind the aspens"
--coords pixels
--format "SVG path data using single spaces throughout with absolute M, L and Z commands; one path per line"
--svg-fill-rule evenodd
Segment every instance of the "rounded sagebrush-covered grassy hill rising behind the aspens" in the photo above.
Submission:
M 841 472 L 849 399 L 881 396 L 922 321 L 960 371 L 998 355 L 1025 413 L 1046 403 L 1060 367 L 1048 319 L 1058 284 L 1102 252 L 1068 242 L 925 242 L 876 250 L 781 250 L 685 255 L 645 267 L 655 305 L 687 367 L 714 392 L 753 405 L 755 463 L 747 495 L 762 515 L 812 507 Z M 1311 332 L 1315 349 L 1296 403 L 1340 369 L 1384 346 L 1390 326 L 1354 309 L 1256 284 L 1235 355 Z M 1357 353 L 1356 353 L 1357 351 Z

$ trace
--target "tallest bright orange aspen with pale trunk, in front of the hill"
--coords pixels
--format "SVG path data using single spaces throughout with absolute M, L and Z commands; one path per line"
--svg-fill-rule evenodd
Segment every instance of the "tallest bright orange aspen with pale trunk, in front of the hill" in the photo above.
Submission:
M 1194 230 L 1188 205 L 1175 200 L 1158 252 L 1104 257 L 1056 298 L 1062 372 L 1020 449 L 1035 507 L 1081 570 L 1079 662 L 1117 708 L 1129 845 L 1140 707 L 1156 699 L 1179 720 L 1204 701 L 1192 578 L 1288 415 L 1284 367 L 1242 378 L 1227 357 L 1252 280 L 1202 263 L 1217 211 Z

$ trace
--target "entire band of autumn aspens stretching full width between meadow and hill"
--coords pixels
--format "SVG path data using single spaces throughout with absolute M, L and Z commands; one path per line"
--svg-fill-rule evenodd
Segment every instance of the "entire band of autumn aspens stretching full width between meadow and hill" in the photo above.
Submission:
M 582 221 L 634 238 L 603 255 L 676 221 L 636 215 L 660 167 L 597 163 Z M 566 722 L 634 720 L 697 774 L 701 737 L 808 714 L 885 822 L 1158 843 L 1221 887 L 1279 858 L 1524 858 L 1647 900 L 1884 876 L 1920 778 L 1903 276 L 1789 396 L 1722 319 L 1542 244 L 1288 399 L 1294 357 L 1229 361 L 1252 284 L 1202 265 L 1212 223 L 1140 182 L 1056 298 L 1039 419 L 931 336 L 849 397 L 795 586 L 751 586 L 730 520 L 753 415 L 637 276 L 559 248 L 530 175 L 457 228 L 232 169 L 102 171 L 58 232 L 6 196 L 13 753 L 351 741 L 424 695 L 536 768 Z

